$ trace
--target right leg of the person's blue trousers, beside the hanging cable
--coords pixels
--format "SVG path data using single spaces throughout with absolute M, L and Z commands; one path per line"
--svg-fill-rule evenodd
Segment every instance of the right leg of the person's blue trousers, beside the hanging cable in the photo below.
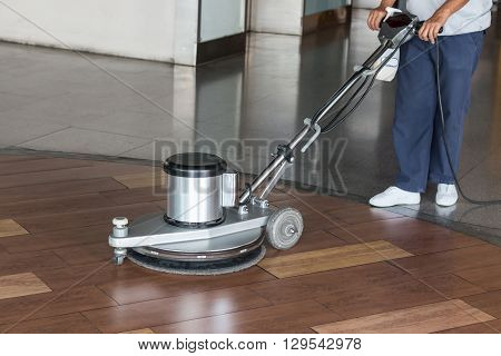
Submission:
M 483 42 L 483 32 L 450 36 L 440 40 L 440 87 L 442 92 L 445 139 L 454 171 L 459 168 L 463 123 L 470 106 L 471 80 Z M 436 58 L 436 49 L 433 50 Z M 442 137 L 442 118 L 436 110 L 429 180 L 453 185 Z

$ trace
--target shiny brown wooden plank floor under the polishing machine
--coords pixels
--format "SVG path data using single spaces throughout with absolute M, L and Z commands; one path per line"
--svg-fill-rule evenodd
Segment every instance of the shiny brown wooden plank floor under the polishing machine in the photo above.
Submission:
M 288 251 L 245 271 L 110 264 L 115 216 L 161 211 L 151 167 L 0 156 L 0 330 L 6 333 L 497 333 L 501 249 L 443 227 L 297 190 Z

